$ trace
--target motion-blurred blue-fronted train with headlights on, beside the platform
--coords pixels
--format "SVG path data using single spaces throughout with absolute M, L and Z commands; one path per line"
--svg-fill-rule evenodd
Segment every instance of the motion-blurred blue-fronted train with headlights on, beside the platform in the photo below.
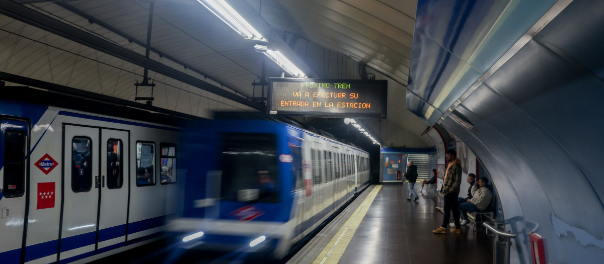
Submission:
M 187 131 L 183 159 L 198 166 L 169 224 L 185 246 L 281 259 L 370 183 L 368 152 L 284 122 L 214 119 Z

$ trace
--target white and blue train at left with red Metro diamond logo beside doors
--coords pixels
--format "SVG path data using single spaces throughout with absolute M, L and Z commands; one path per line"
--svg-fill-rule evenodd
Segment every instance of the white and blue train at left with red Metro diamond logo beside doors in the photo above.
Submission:
M 162 120 L 146 111 L 23 90 L 0 99 L 0 262 L 88 262 L 164 236 L 181 129 L 141 121 Z

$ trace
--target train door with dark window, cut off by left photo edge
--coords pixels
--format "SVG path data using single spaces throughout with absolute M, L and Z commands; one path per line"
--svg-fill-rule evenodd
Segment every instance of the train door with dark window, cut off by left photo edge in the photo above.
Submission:
M 0 262 L 21 262 L 27 190 L 27 122 L 2 119 L 0 125 Z

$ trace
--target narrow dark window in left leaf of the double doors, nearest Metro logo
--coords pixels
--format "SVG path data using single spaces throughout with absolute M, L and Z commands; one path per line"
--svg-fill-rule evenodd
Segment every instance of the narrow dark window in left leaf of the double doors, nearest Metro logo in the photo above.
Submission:
M 71 146 L 71 190 L 88 192 L 92 188 L 92 141 L 74 137 Z

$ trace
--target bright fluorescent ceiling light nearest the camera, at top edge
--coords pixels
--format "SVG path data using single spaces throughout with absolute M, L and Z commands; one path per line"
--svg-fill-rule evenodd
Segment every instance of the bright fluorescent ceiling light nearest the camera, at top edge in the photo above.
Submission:
M 225 0 L 197 0 L 199 3 L 208 8 L 220 20 L 226 23 L 229 27 L 237 31 L 245 39 L 254 39 L 266 41 L 262 34 L 255 30 L 243 17 L 237 13 Z

